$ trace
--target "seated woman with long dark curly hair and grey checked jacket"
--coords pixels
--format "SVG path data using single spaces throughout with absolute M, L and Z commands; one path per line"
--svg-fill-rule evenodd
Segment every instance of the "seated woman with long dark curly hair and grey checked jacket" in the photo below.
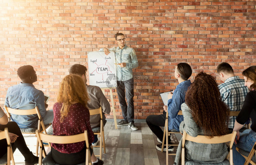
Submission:
M 184 121 L 179 131 L 185 130 L 190 136 L 205 135 L 209 138 L 227 134 L 230 109 L 221 100 L 216 80 L 203 72 L 196 75 L 188 89 L 185 103 L 181 105 Z M 174 164 L 180 164 L 182 140 L 177 148 Z M 220 163 L 228 154 L 225 143 L 203 144 L 185 141 L 185 161 L 198 163 Z

